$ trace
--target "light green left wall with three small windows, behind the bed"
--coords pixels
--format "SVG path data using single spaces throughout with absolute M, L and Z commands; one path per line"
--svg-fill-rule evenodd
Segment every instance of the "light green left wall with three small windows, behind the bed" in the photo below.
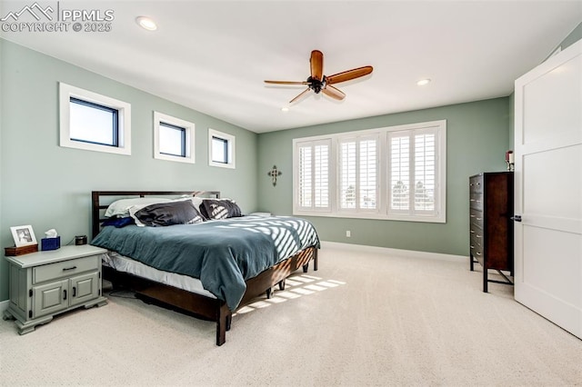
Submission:
M 90 235 L 92 190 L 219 190 L 244 212 L 256 210 L 257 134 L 0 39 L 0 238 L 31 224 L 36 238 L 55 228 L 62 243 Z M 58 146 L 58 82 L 128 102 L 131 156 Z M 196 124 L 196 164 L 153 158 L 153 112 Z M 208 166 L 208 127 L 236 136 L 236 170 Z M 0 260 L 0 301 L 8 298 Z

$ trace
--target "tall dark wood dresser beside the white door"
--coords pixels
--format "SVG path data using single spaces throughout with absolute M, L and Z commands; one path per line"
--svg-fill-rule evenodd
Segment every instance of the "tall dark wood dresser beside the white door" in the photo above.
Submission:
M 491 172 L 469 177 L 470 269 L 483 266 L 483 292 L 487 283 L 513 284 L 513 172 Z M 505 281 L 488 279 L 496 270 Z

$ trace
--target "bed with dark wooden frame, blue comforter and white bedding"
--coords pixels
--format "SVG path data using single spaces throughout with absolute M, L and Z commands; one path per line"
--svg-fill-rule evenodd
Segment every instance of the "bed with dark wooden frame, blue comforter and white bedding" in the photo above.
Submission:
M 159 225 L 153 218 L 166 222 L 159 216 L 160 208 L 178 205 L 175 202 L 187 205 L 187 211 L 191 211 L 189 199 L 197 201 L 198 214 L 211 219 L 140 227 L 133 221 L 119 225 L 115 216 L 105 216 L 111 215 L 112 203 L 128 198 L 128 202 L 141 198 L 153 203 L 142 205 L 139 212 L 133 210 L 138 206 L 131 207 L 131 217 L 137 223 L 145 218 L 145 222 L 154 222 L 150 225 Z M 157 198 L 165 198 L 170 204 L 154 204 Z M 289 274 L 299 268 L 306 273 L 310 262 L 317 270 L 319 248 L 315 229 L 304 219 L 259 214 L 213 220 L 216 216 L 213 218 L 210 212 L 214 210 L 208 203 L 222 205 L 226 201 L 221 201 L 217 191 L 93 191 L 91 244 L 110 252 L 104 260 L 104 279 L 114 288 L 135 291 L 146 302 L 162 303 L 216 322 L 216 345 L 224 344 L 233 312 L 260 294 L 269 298 L 277 285 L 285 289 Z M 213 209 L 224 210 L 212 205 Z M 204 207 L 206 213 L 201 211 Z

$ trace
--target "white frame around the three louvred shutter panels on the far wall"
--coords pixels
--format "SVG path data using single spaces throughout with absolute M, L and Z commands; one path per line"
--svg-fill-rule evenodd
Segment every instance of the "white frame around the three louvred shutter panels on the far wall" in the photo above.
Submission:
M 437 183 L 435 188 L 435 214 L 424 213 L 392 213 L 389 210 L 389 173 L 390 163 L 388 159 L 389 149 L 388 141 L 389 134 L 398 131 L 426 131 L 435 130 L 437 140 L 436 150 L 436 167 L 437 167 Z M 342 140 L 349 137 L 368 137 L 372 135 L 378 137 L 378 156 L 379 165 L 377 169 L 376 184 L 378 185 L 376 196 L 376 209 L 362 209 L 347 211 L 339 207 L 340 192 L 339 192 L 339 151 Z M 329 197 L 331 201 L 330 208 L 327 211 L 306 210 L 305 207 L 299 206 L 297 197 L 297 176 L 298 176 L 298 147 L 297 144 L 316 143 L 323 140 L 331 141 L 331 148 L 329 154 Z M 294 196 L 293 196 L 293 214 L 303 216 L 326 216 L 337 218 L 356 218 L 356 219 L 377 219 L 377 220 L 394 220 L 406 222 L 425 222 L 425 223 L 447 223 L 447 120 L 437 120 L 417 124 L 403 124 L 396 126 L 388 126 L 376 129 L 366 129 L 361 131 L 316 135 L 311 137 L 303 137 L 293 139 L 293 169 L 294 169 Z M 413 202 L 414 203 L 414 202 Z

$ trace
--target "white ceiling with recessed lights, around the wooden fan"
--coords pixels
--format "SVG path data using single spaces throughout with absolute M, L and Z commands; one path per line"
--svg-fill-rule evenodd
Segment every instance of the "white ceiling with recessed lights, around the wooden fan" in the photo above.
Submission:
M 30 1 L 0 2 L 0 17 Z M 39 5 L 57 2 L 38 1 Z M 102 33 L 2 32 L 47 55 L 256 133 L 506 96 L 580 22 L 582 1 L 66 1 L 114 11 Z M 154 18 L 148 32 L 135 17 Z M 25 16 L 22 16 L 25 17 Z M 324 74 L 374 73 L 336 84 L 337 102 L 303 86 L 309 55 Z M 424 87 L 421 78 L 431 78 Z

